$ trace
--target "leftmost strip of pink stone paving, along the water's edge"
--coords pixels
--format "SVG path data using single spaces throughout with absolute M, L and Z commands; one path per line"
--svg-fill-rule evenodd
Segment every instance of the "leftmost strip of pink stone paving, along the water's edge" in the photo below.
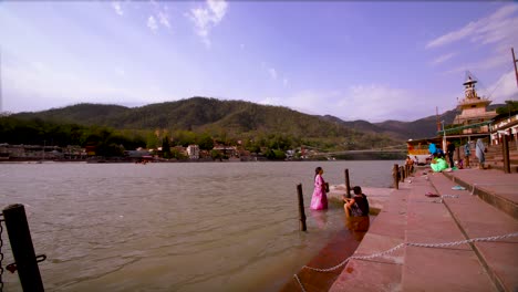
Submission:
M 377 253 L 404 242 L 408 191 L 401 188 L 392 192 L 354 257 Z M 384 257 L 350 260 L 330 291 L 398 291 L 403 262 L 403 249 Z

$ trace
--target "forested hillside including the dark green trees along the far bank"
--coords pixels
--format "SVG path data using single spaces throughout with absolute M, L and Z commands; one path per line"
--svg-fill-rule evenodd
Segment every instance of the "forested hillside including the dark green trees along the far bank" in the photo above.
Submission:
M 128 108 L 79 104 L 0 118 L 0 143 L 96 146 L 104 155 L 121 149 L 215 144 L 269 158 L 305 147 L 319 152 L 371 149 L 402 144 L 388 135 L 364 133 L 287 107 L 194 97 Z M 122 146 L 122 147 L 121 147 Z

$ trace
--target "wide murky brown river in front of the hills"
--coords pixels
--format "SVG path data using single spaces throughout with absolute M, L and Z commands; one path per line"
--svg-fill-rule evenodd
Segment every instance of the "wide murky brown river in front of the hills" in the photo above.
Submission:
M 309 210 L 314 168 L 388 187 L 394 163 L 0 164 L 0 207 L 25 206 L 48 291 L 274 291 L 344 228 L 341 206 Z

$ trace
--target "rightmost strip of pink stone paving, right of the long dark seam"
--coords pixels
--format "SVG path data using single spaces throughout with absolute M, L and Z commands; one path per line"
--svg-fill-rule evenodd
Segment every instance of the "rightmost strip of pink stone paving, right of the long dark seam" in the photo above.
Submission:
M 439 194 L 458 196 L 444 198 L 444 204 L 464 237 L 473 239 L 518 232 L 518 220 L 470 195 L 469 190 L 452 190 L 456 184 L 444 175 L 434 174 L 431 181 Z M 498 291 L 518 291 L 518 237 L 474 242 L 470 248 Z

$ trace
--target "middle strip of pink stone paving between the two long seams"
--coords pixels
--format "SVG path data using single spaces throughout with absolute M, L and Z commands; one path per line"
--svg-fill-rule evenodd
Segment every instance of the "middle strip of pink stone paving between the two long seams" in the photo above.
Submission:
M 433 177 L 433 175 L 429 175 Z M 437 190 L 416 178 L 408 195 L 406 242 L 443 243 L 465 240 L 446 206 L 426 192 Z M 469 244 L 449 248 L 406 247 L 402 291 L 495 291 Z

